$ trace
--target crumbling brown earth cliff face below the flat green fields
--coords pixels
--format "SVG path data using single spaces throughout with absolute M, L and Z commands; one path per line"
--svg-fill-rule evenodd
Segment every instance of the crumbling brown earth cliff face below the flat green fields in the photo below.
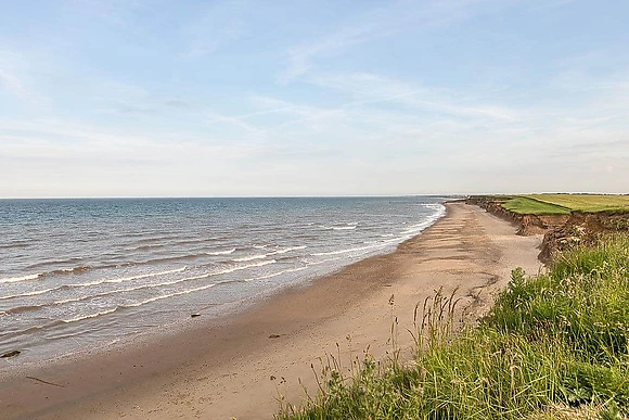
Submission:
M 629 213 L 579 213 L 570 215 L 519 215 L 512 213 L 497 201 L 488 198 L 471 198 L 468 204 L 475 204 L 505 220 L 519 225 L 517 234 L 543 234 L 539 259 L 548 264 L 564 250 L 577 244 L 594 244 L 602 234 L 629 233 Z

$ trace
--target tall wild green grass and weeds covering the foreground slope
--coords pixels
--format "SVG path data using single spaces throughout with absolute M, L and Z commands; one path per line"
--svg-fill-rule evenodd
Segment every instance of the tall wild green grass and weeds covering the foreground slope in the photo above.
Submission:
M 350 377 L 329 364 L 318 396 L 277 419 L 629 415 L 629 238 L 562 254 L 537 277 L 515 269 L 488 316 L 455 335 L 454 305 L 440 293 L 424 304 L 413 362 L 365 356 Z

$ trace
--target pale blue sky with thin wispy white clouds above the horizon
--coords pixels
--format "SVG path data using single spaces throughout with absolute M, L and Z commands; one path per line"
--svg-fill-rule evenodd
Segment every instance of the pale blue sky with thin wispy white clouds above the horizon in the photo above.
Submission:
M 626 0 L 25 0 L 0 198 L 629 192 Z

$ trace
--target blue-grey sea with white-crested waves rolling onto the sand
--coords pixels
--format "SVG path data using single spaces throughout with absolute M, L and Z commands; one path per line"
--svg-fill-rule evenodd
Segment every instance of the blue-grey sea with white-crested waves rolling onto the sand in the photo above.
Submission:
M 231 316 L 394 251 L 447 199 L 0 200 L 0 355 L 21 352 L 0 369 Z

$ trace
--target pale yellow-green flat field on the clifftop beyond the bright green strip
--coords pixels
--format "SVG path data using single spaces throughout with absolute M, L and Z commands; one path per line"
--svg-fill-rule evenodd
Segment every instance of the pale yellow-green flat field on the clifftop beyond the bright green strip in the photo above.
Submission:
M 578 212 L 629 212 L 629 195 L 538 194 L 527 196 Z

